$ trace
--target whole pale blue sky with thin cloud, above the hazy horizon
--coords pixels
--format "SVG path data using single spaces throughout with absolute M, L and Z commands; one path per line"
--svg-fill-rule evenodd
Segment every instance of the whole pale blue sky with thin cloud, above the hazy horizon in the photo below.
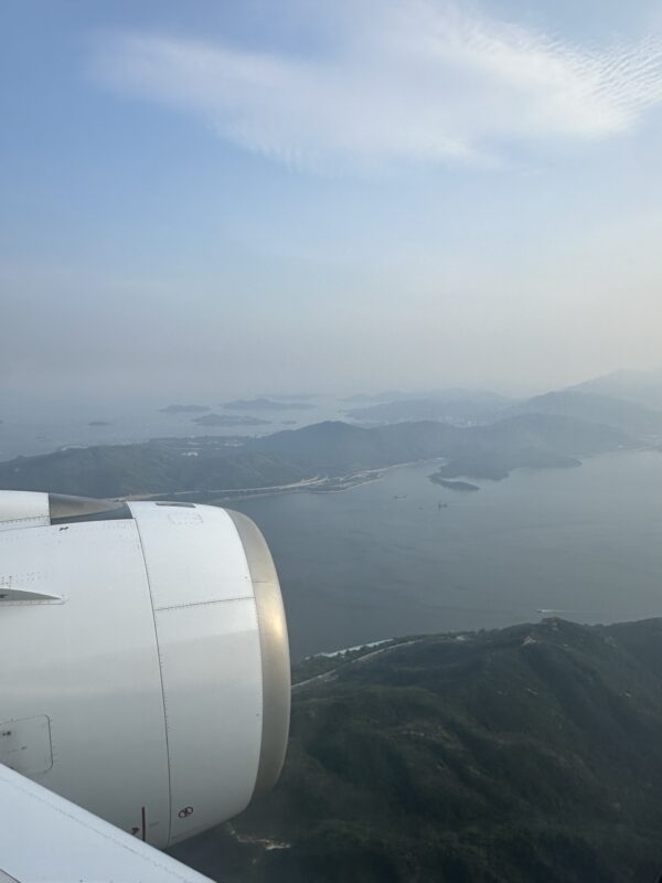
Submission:
M 7 0 L 6 401 L 660 366 L 662 7 Z

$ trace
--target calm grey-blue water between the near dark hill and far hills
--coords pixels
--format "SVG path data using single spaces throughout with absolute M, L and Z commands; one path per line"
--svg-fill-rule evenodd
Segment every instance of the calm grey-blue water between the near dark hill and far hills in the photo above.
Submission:
M 580 623 L 662 616 L 662 454 L 521 469 L 473 493 L 431 483 L 433 471 L 233 502 L 274 553 L 293 659 L 537 621 L 540 609 Z

